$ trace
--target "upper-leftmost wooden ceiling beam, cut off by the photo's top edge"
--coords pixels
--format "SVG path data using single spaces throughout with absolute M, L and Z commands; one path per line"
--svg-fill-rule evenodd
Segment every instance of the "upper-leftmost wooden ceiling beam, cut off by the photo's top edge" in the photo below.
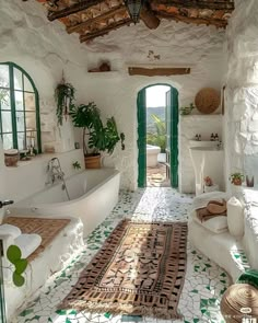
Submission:
M 49 21 L 54 21 L 56 19 L 68 16 L 70 14 L 80 12 L 82 10 L 86 10 L 93 5 L 102 3 L 103 1 L 104 0 L 83 0 L 81 2 L 74 3 L 74 4 L 67 7 L 62 10 L 59 10 L 59 11 L 48 11 L 47 18 Z

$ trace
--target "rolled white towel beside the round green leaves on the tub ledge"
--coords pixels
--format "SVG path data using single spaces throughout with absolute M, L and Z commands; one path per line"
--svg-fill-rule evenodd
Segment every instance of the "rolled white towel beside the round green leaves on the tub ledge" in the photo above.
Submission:
M 22 257 L 27 258 L 42 243 L 42 237 L 32 234 L 21 234 L 14 239 L 14 244 L 16 244 L 22 252 Z

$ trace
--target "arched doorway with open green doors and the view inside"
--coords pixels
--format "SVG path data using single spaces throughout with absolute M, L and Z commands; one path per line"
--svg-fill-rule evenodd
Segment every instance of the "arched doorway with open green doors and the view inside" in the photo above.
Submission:
M 178 187 L 178 91 L 164 83 L 138 92 L 138 187 Z

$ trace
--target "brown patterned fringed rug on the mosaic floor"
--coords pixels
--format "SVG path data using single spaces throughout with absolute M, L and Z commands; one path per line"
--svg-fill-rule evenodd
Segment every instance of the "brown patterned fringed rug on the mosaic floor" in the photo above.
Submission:
M 180 319 L 186 222 L 122 220 L 59 309 Z

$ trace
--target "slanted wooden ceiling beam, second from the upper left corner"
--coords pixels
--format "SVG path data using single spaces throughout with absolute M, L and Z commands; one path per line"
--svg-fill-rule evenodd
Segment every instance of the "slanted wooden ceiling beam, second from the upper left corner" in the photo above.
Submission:
M 95 23 L 99 23 L 101 21 L 107 20 L 109 18 L 113 18 L 115 14 L 125 13 L 127 11 L 126 7 L 124 4 L 116 5 L 110 9 L 110 11 L 107 11 L 103 14 L 99 14 L 95 18 L 87 19 L 86 21 L 79 23 L 74 26 L 67 27 L 68 34 L 80 32 L 81 30 L 89 27 L 91 25 L 94 25 Z

